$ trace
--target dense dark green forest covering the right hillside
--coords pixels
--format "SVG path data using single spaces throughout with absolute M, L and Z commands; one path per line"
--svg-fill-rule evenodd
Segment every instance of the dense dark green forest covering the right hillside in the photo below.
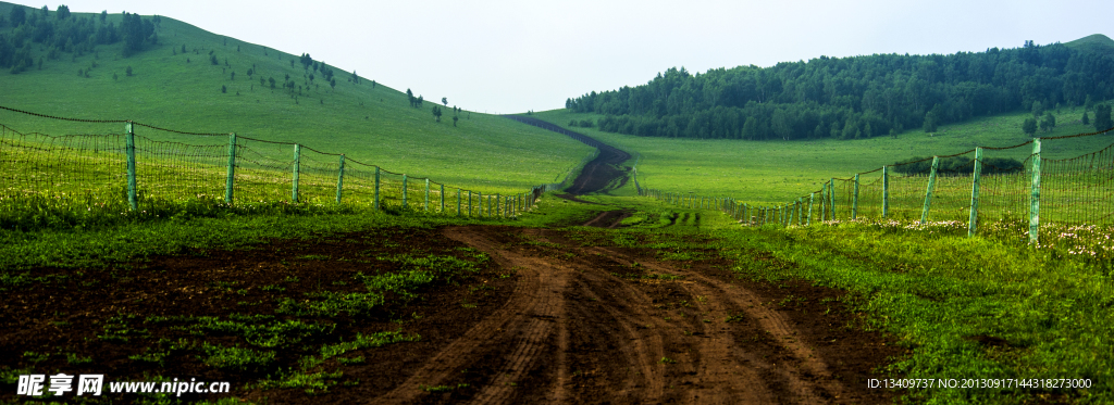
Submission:
M 593 91 L 565 107 L 603 115 L 576 124 L 609 132 L 790 140 L 935 131 L 973 117 L 1111 98 L 1111 52 L 1025 41 L 985 52 L 820 57 L 703 75 L 672 68 L 646 85 Z

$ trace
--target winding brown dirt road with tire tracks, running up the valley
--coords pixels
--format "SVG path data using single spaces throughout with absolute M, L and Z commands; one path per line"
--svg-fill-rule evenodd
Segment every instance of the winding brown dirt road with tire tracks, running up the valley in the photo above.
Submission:
M 606 190 L 625 178 L 628 155 L 561 131 L 600 148 L 570 194 Z M 584 225 L 614 228 L 625 214 L 603 213 Z M 648 248 L 593 246 L 575 229 L 470 226 L 441 234 L 515 270 L 517 284 L 505 305 L 377 404 L 892 401 L 866 381 L 895 350 L 847 326 L 854 315 L 841 309 L 840 292 L 741 280 L 715 251 L 675 261 Z M 485 376 L 468 398 L 422 389 L 452 386 L 477 369 Z

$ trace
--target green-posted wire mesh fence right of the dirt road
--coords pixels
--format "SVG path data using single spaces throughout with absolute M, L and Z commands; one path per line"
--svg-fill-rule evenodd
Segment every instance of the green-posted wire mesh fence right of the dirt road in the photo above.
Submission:
M 641 188 L 639 195 L 688 208 L 720 209 L 755 226 L 854 219 L 960 221 L 974 236 L 980 220 L 1028 219 L 1028 238 L 1035 243 L 1042 221 L 1114 224 L 1114 145 L 1069 159 L 1040 156 L 1043 142 L 1111 131 L 1114 128 L 883 166 L 831 178 L 819 190 L 774 206 L 649 188 Z M 990 156 L 1017 148 L 1032 152 L 1020 162 Z

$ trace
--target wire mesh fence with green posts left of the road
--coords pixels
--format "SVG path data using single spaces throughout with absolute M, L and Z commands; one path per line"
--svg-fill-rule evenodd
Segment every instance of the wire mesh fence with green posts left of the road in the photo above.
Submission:
M 0 109 L 47 119 L 119 124 L 110 135 L 21 134 L 0 125 L 0 199 L 49 197 L 98 201 L 126 199 L 131 210 L 150 200 L 225 204 L 290 201 L 401 207 L 447 215 L 514 217 L 560 182 L 501 195 L 463 189 L 388 171 L 293 142 L 236 134 L 198 134 L 128 120 L 84 120 Z M 204 137 L 209 145 L 155 140 L 136 129 Z M 219 139 L 226 139 L 221 141 Z M 216 142 L 214 142 L 216 141 Z M 205 144 L 205 142 L 202 142 Z

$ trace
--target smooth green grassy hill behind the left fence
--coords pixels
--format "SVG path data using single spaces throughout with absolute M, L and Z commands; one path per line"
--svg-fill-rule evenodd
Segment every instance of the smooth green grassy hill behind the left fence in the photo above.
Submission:
M 11 7 L 0 3 L 0 14 L 7 17 Z M 51 10 L 48 18 L 55 14 Z M 74 12 L 72 18 L 101 23 L 99 13 Z M 105 23 L 119 27 L 121 21 L 123 14 L 114 13 Z M 492 192 L 551 182 L 590 152 L 567 137 L 496 116 L 463 111 L 455 127 L 451 105 L 436 122 L 432 100 L 422 108 L 411 108 L 405 93 L 373 85 L 374 72 L 361 72 L 361 82 L 355 83 L 351 69 L 330 66 L 336 81 L 331 88 L 320 72 L 310 81 L 313 69 L 303 69 L 295 55 L 172 18 L 163 17 L 157 27 L 158 43 L 128 58 L 121 56 L 123 43 L 117 42 L 96 46 L 94 52 L 82 55 L 59 52 L 51 60 L 49 45 L 26 41 L 36 66 L 18 75 L 0 72 L 0 106 L 300 142 L 388 170 Z M 10 21 L 0 26 L 0 34 L 8 38 L 14 30 Z M 302 51 L 313 53 L 313 49 Z M 211 62 L 212 57 L 217 65 Z M 127 75 L 129 67 L 131 76 Z M 251 77 L 248 69 L 253 70 Z M 301 90 L 292 93 L 281 88 L 287 75 Z M 261 78 L 274 78 L 278 88 L 271 89 L 270 82 L 261 85 Z M 21 132 L 49 135 L 123 131 L 120 125 L 56 121 L 7 111 L 0 112 L 0 124 Z M 226 142 L 149 130 L 137 134 L 190 144 Z

